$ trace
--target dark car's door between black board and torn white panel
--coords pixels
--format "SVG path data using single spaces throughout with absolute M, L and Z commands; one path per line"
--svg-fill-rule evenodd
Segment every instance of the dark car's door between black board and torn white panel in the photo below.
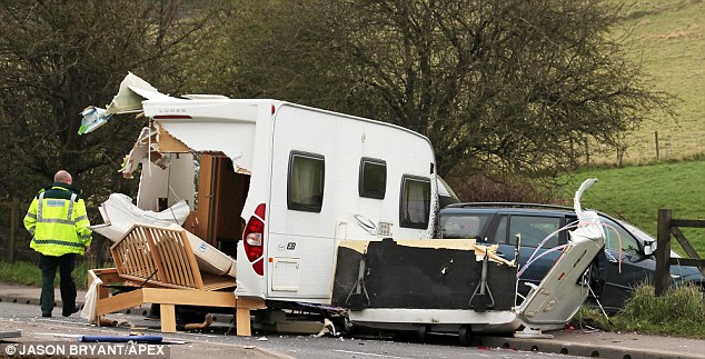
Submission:
M 499 213 L 487 230 L 485 239 L 499 245 L 498 253 L 508 260 L 515 259 L 520 235 L 518 270 L 523 272 L 517 288 L 520 296 L 529 291 L 525 283 L 540 283 L 560 255 L 560 250 L 554 248 L 565 243 L 565 236 L 557 232 L 562 222 L 560 216 L 548 213 Z

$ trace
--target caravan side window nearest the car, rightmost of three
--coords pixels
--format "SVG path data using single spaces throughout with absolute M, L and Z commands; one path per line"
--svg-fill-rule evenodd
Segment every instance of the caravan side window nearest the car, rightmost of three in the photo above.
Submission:
M 401 177 L 399 226 L 428 228 L 430 216 L 430 179 L 417 176 Z

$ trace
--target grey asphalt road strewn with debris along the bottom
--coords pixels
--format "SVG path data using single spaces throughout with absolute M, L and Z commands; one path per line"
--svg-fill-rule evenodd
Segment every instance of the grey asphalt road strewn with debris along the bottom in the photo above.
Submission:
M 22 337 L 11 339 L 20 343 L 53 341 L 76 342 L 85 335 L 128 336 L 160 335 L 159 321 L 145 320 L 141 316 L 111 315 L 126 320 L 131 326 L 97 328 L 89 325 L 78 313 L 69 318 L 39 317 L 37 306 L 0 303 L 0 330 L 22 330 Z M 54 310 L 60 312 L 60 310 Z M 429 336 L 428 343 L 415 343 L 396 338 L 334 338 L 311 336 L 289 336 L 255 332 L 252 337 L 236 337 L 227 333 L 228 318 L 202 332 L 177 332 L 163 335 L 171 342 L 171 358 L 555 358 L 560 355 L 505 350 L 498 348 L 467 348 L 457 343 L 457 338 Z M 7 342 L 7 341 L 6 341 Z M 4 353 L 0 353 L 0 357 Z M 17 356 L 16 356 L 17 357 Z

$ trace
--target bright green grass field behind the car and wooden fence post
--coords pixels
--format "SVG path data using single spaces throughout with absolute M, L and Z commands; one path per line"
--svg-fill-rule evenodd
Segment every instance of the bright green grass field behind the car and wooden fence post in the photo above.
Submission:
M 566 177 L 568 185 L 560 189 L 562 197 L 572 199 L 586 178 L 598 181 L 585 192 L 584 207 L 626 219 L 654 238 L 659 208 L 672 209 L 673 218 L 705 219 L 705 160 L 582 170 Z M 705 257 L 705 229 L 682 230 Z M 683 253 L 677 242 L 672 246 Z

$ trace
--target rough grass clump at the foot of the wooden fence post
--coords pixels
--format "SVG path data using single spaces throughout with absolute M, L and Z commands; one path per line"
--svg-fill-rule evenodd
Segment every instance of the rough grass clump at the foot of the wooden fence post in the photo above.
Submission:
M 624 309 L 609 320 L 590 307 L 583 307 L 573 319 L 608 331 L 702 339 L 705 338 L 705 297 L 696 287 L 683 286 L 656 297 L 654 287 L 641 286 Z

